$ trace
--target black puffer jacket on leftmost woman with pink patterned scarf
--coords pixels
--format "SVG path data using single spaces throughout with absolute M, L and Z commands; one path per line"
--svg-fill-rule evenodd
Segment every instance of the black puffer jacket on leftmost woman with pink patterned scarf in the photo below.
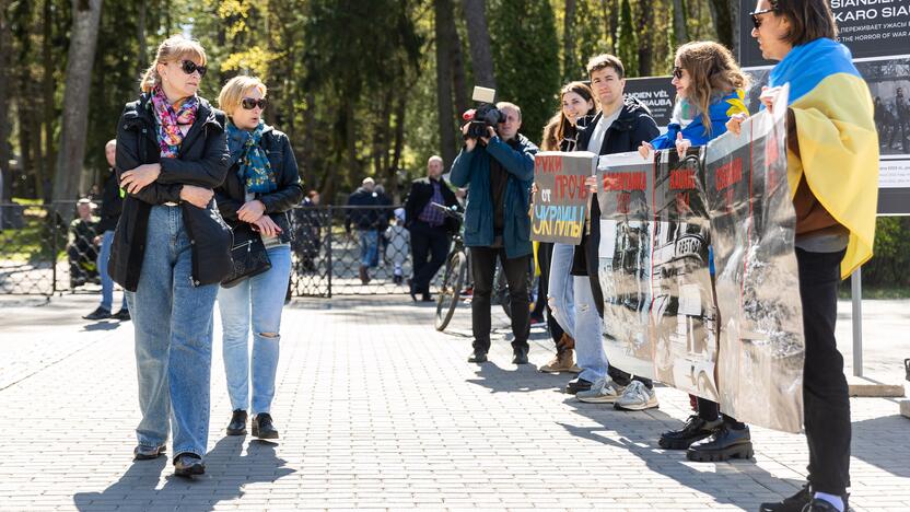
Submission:
M 199 100 L 196 120 L 189 128 L 178 158 L 162 159 L 151 96 L 142 94 L 128 103 L 117 125 L 117 179 L 142 164 L 161 163 L 161 175 L 138 194 L 127 194 L 120 222 L 114 233 L 108 271 L 126 290 L 136 291 L 142 260 L 149 213 L 155 205 L 177 202 L 192 244 L 192 284 L 212 284 L 231 270 L 231 230 L 209 201 L 197 208 L 180 201 L 184 185 L 214 189 L 228 172 L 228 139 L 224 113 Z

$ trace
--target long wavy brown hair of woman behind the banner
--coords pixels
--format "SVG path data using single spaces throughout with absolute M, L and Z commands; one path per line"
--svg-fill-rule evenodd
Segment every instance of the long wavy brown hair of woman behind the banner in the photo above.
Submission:
M 733 54 L 712 40 L 686 43 L 676 50 L 679 67 L 689 73 L 688 101 L 698 108 L 707 131 L 711 131 L 708 109 L 718 95 L 749 86 L 749 78 L 739 69 Z

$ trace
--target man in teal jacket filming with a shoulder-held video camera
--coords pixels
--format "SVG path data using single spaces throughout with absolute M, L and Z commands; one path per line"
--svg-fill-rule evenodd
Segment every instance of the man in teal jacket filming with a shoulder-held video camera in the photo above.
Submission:
M 517 105 L 481 105 L 472 120 L 462 127 L 465 146 L 452 164 L 452 184 L 470 190 L 465 208 L 465 245 L 470 247 L 474 272 L 474 353 L 468 362 L 487 361 L 490 350 L 490 294 L 499 259 L 512 304 L 512 362 L 527 363 L 532 254 L 527 210 L 537 147 L 518 133 L 521 127 Z

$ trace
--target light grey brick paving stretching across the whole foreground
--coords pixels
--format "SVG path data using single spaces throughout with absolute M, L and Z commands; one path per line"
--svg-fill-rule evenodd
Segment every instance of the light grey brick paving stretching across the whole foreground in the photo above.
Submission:
M 131 461 L 129 324 L 79 319 L 96 295 L 0 299 L 4 511 L 755 510 L 804 478 L 802 435 L 754 429 L 754 461 L 688 463 L 656 447 L 688 415 L 682 393 L 661 388 L 661 408 L 645 412 L 580 404 L 556 391 L 568 375 L 536 371 L 551 356 L 542 331 L 534 365 L 516 368 L 495 315 L 492 362 L 477 366 L 465 362 L 467 309 L 440 334 L 429 306 L 378 296 L 288 306 L 277 444 L 223 435 L 231 408 L 217 336 L 208 473 L 187 481 L 165 458 Z M 870 373 L 900 382 L 910 303 L 867 301 L 866 316 Z M 840 330 L 849 345 L 849 323 Z M 852 406 L 851 504 L 910 510 L 910 419 L 894 400 Z

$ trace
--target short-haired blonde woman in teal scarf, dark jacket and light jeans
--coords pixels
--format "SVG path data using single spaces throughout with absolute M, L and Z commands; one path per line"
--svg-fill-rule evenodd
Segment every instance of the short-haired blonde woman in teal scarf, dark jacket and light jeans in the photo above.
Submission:
M 271 402 L 281 337 L 281 311 L 291 276 L 291 224 L 288 211 L 303 198 L 298 163 L 288 136 L 266 125 L 266 85 L 257 78 L 235 77 L 218 104 L 228 113 L 231 170 L 215 189 L 221 214 L 237 234 L 258 236 L 271 268 L 218 292 L 224 373 L 233 416 L 228 435 L 246 433 L 247 410 L 253 435 L 278 439 Z M 247 231 L 252 230 L 252 231 Z M 253 357 L 249 358 L 250 324 Z M 253 383 L 250 400 L 249 387 Z

